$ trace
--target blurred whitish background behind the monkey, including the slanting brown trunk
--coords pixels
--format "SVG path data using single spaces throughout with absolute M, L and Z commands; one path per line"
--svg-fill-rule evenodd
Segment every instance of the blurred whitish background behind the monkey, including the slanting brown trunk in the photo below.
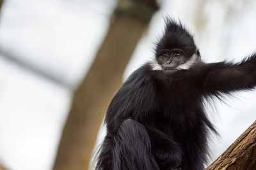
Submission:
M 0 164 L 6 169 L 93 169 L 108 104 L 122 81 L 154 57 L 165 16 L 193 32 L 205 62 L 239 61 L 256 50 L 252 0 L 2 3 Z M 256 92 L 234 96 L 205 106 L 221 134 L 211 136 L 211 162 L 256 119 Z

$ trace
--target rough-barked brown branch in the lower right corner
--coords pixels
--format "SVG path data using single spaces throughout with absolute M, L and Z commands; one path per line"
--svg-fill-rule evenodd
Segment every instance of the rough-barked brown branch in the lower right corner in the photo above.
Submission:
M 256 121 L 205 170 L 256 169 Z

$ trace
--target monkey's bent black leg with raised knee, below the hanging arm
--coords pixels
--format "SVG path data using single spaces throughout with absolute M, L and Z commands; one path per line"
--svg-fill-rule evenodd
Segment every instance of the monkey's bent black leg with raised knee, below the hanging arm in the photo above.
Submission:
M 147 129 L 132 119 L 120 125 L 114 137 L 113 169 L 159 169 L 151 152 L 150 138 Z

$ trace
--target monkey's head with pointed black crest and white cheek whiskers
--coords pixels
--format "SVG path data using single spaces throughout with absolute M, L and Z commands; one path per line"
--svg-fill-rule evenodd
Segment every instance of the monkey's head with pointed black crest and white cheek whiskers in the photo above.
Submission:
M 166 19 L 164 34 L 155 50 L 156 60 L 151 64 L 153 70 L 189 69 L 196 60 L 200 60 L 193 36 L 180 23 L 170 19 Z

